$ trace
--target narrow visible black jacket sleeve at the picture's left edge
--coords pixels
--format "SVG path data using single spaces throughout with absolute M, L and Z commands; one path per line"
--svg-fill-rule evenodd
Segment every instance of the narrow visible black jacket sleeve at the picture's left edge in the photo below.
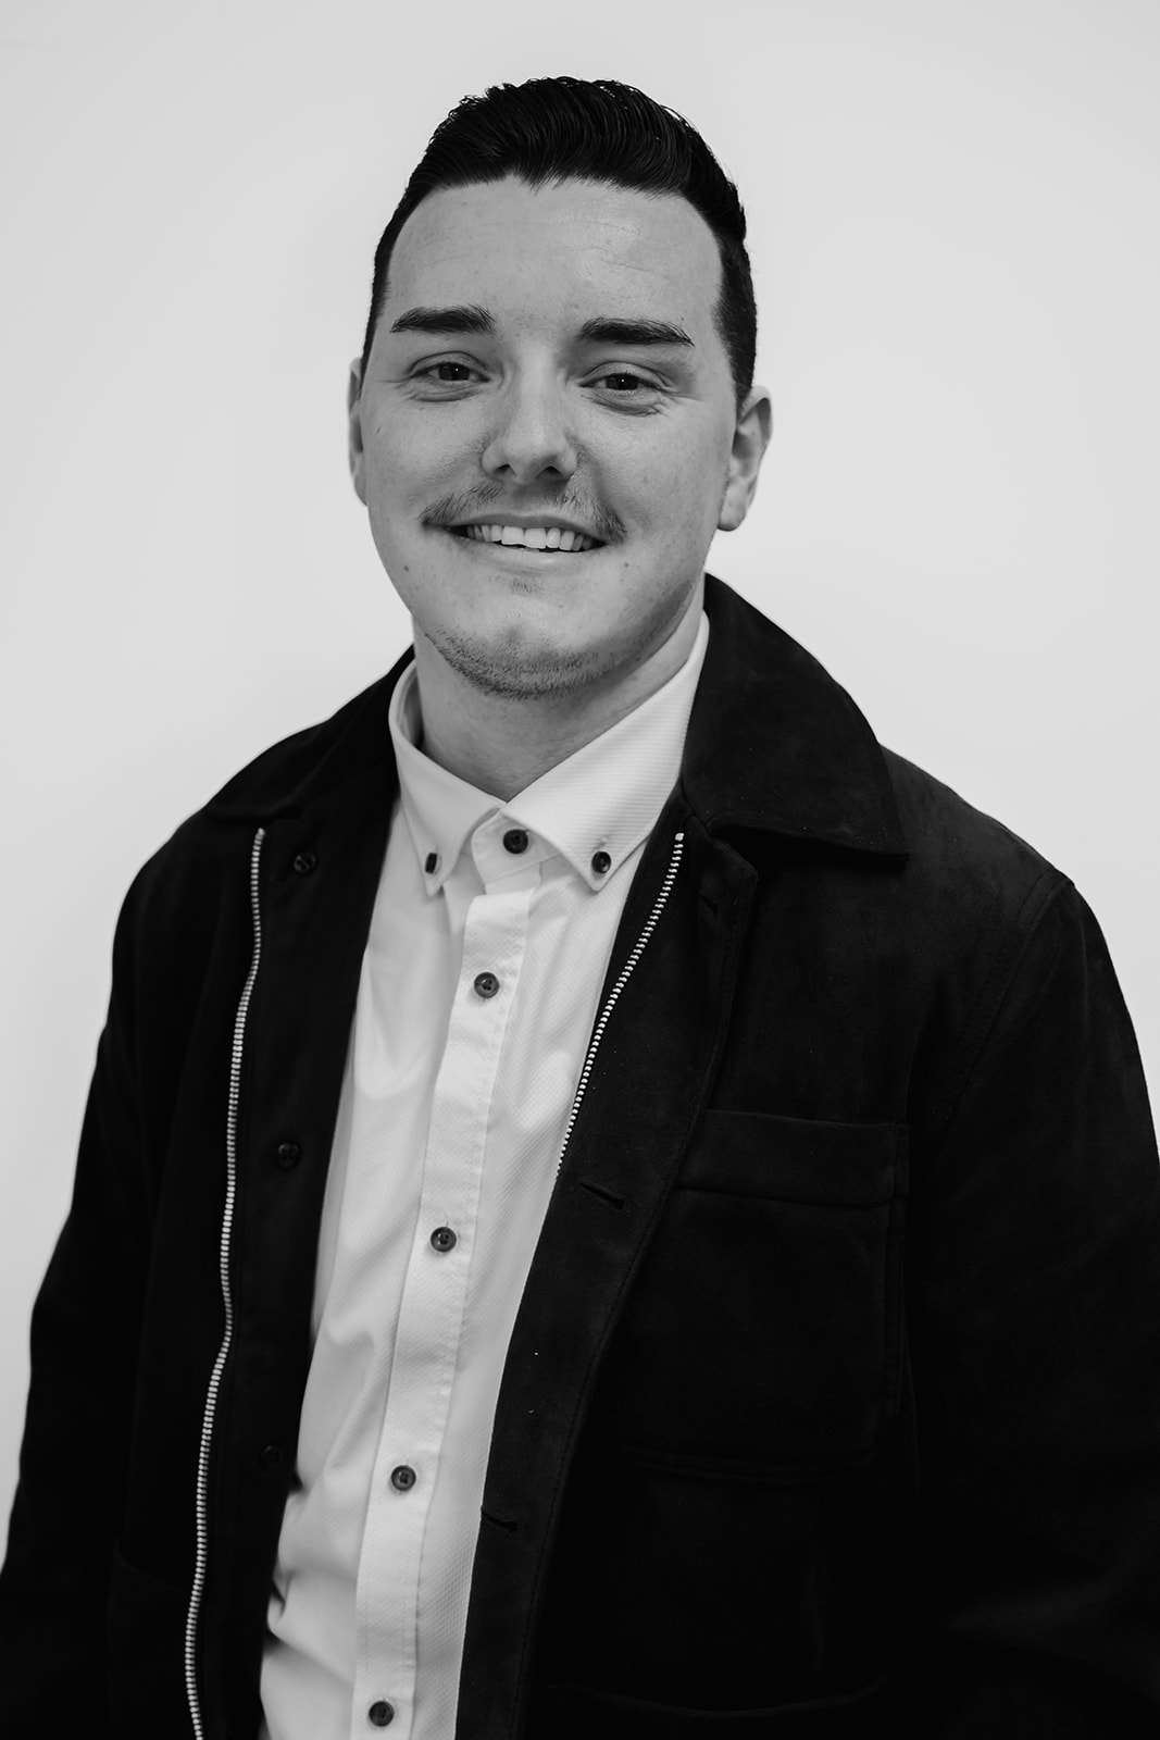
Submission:
M 134 1105 L 132 893 L 71 1208 L 31 1321 L 19 1484 L 0 1569 L 0 1733 L 108 1735 L 104 1615 L 127 1484 L 150 1215 Z

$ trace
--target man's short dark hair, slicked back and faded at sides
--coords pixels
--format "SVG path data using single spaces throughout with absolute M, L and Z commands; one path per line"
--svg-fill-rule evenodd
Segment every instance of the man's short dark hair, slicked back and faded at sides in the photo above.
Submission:
M 612 78 L 490 85 L 482 97 L 464 97 L 438 124 L 374 254 L 360 372 L 370 357 L 391 252 L 412 211 L 440 188 L 504 176 L 518 176 L 532 188 L 574 177 L 687 198 L 717 237 L 722 259 L 717 327 L 741 404 L 753 385 L 757 306 L 737 190 L 696 127 L 643 90 Z

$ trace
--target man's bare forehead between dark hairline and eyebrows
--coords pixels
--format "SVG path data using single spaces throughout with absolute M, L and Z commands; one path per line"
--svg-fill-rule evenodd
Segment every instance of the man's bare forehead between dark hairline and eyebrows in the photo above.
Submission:
M 475 303 L 532 324 L 649 317 L 708 339 L 720 275 L 713 231 L 677 193 L 574 179 L 530 188 L 511 176 L 423 200 L 395 244 L 384 310 Z

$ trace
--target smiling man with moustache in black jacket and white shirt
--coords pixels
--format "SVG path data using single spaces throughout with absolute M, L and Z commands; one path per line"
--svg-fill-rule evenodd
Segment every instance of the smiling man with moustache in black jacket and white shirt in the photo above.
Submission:
M 1066 877 L 704 578 L 753 348 L 680 118 L 443 122 L 350 392 L 414 661 L 125 903 L 5 1737 L 1155 1731 L 1130 1025 Z

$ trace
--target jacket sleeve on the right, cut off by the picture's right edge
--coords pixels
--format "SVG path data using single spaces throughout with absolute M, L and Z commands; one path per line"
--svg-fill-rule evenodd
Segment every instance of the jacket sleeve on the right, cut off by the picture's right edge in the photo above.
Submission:
M 923 1731 L 1155 1735 L 1160 1174 L 1143 1068 L 1071 884 L 1003 980 L 915 1155 Z

